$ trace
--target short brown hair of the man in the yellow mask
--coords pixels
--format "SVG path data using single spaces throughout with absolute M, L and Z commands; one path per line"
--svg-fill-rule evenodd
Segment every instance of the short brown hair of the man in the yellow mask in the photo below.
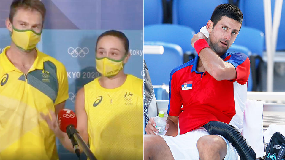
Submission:
M 14 0 L 10 6 L 9 20 L 11 23 L 18 9 L 35 9 L 41 13 L 42 21 L 45 19 L 45 5 L 39 0 Z

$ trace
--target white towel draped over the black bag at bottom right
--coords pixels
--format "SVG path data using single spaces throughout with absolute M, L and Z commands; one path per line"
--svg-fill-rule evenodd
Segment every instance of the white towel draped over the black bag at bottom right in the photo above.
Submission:
M 274 133 L 280 132 L 283 136 L 285 135 L 285 125 L 270 124 L 267 130 L 263 133 L 265 143 L 269 143 Z

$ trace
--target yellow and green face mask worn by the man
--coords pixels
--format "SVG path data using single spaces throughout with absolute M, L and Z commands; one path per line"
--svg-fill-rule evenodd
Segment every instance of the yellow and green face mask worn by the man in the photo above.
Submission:
M 12 41 L 18 48 L 25 52 L 31 52 L 37 43 L 41 40 L 41 34 L 33 30 L 18 30 L 13 26 L 13 32 L 10 33 Z

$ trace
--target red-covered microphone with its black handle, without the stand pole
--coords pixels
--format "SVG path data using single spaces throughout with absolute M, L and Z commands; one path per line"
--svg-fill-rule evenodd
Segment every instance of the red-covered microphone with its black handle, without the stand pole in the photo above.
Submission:
M 70 109 L 62 109 L 58 112 L 57 119 L 60 130 L 67 133 L 69 139 L 71 140 L 74 152 L 80 159 L 79 146 L 72 134 L 74 132 L 77 132 L 77 118 L 75 116 L 75 113 Z

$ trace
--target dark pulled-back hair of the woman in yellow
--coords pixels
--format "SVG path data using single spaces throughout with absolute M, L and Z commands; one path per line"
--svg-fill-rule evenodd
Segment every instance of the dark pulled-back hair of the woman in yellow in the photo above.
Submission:
M 123 32 L 120 31 L 116 31 L 116 30 L 109 30 L 106 31 L 104 33 L 102 33 L 98 38 L 97 38 L 97 42 L 96 42 L 96 49 L 97 50 L 97 44 L 98 41 L 104 37 L 104 36 L 114 36 L 114 37 L 118 37 L 119 39 L 121 39 L 124 43 L 124 47 L 126 50 L 126 54 L 129 52 L 129 39 L 126 37 L 126 35 Z

